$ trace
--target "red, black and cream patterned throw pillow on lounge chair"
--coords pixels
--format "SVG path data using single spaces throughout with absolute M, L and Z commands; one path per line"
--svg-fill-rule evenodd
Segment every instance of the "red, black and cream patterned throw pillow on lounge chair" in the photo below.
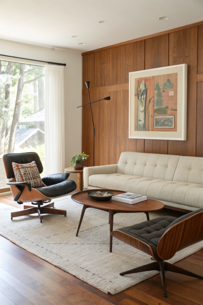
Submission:
M 31 188 L 46 186 L 40 177 L 35 161 L 26 164 L 12 162 L 16 182 L 30 182 Z

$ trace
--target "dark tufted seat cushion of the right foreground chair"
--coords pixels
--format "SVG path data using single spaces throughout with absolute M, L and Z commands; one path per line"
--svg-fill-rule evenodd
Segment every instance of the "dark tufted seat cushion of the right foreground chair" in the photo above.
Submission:
M 173 221 L 175 221 L 175 220 L 177 220 L 176 217 L 161 216 L 161 217 L 149 220 L 149 221 L 143 221 L 139 224 L 134 224 L 132 226 L 124 227 L 124 228 L 117 229 L 117 230 L 124 232 L 128 235 L 131 235 L 131 236 L 141 240 L 142 242 L 145 242 L 146 244 L 148 244 L 152 248 L 154 257 L 157 260 L 160 260 L 159 256 L 156 253 L 156 246 L 152 242 L 154 242 L 157 245 L 160 238 L 162 237 L 163 233 L 167 230 L 167 228 L 170 226 L 170 224 L 173 223 Z M 127 230 L 127 231 L 125 231 L 125 230 Z M 131 231 L 132 233 L 129 231 Z M 150 242 L 138 235 L 135 235 L 133 233 L 137 233 L 137 234 L 141 235 L 142 237 L 149 239 L 152 242 Z

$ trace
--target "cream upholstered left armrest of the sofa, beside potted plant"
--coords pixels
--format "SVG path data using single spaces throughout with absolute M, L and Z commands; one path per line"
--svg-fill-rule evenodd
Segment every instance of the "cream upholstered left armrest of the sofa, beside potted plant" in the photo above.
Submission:
M 84 187 L 89 186 L 89 176 L 97 174 L 115 174 L 117 170 L 117 164 L 90 166 L 83 168 L 83 181 Z

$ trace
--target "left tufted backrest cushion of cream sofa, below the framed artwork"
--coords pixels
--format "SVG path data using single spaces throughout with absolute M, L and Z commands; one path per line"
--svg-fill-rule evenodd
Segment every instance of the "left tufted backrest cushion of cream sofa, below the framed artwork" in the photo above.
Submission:
M 154 153 L 121 152 L 116 173 L 173 181 L 179 158 Z

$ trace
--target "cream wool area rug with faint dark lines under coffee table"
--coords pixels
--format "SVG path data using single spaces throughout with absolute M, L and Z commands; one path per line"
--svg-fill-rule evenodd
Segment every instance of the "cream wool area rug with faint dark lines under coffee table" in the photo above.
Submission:
M 54 202 L 56 208 L 67 210 L 67 217 L 44 215 L 42 224 L 37 216 L 11 220 L 10 213 L 18 209 L 1 203 L 0 235 L 106 293 L 115 294 L 158 273 L 119 275 L 122 271 L 152 263 L 151 257 L 115 238 L 110 253 L 109 219 L 105 211 L 87 209 L 76 237 L 82 205 L 74 202 L 71 196 Z M 173 211 L 166 209 L 149 213 L 150 219 L 163 215 L 175 216 Z M 144 213 L 119 213 L 114 215 L 114 229 L 142 221 L 146 221 Z M 173 264 L 201 248 L 203 242 L 177 252 L 169 262 Z

